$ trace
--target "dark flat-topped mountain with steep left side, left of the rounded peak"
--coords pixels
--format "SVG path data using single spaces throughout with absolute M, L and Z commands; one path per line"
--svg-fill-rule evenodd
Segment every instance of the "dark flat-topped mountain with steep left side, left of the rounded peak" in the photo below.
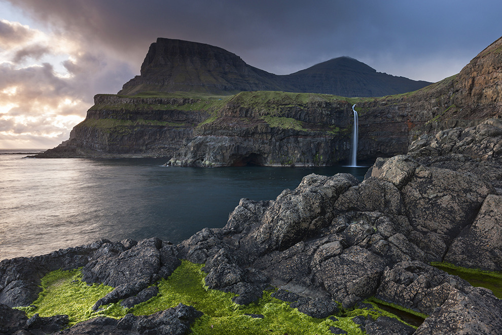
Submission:
M 281 90 L 272 73 L 247 65 L 222 48 L 178 39 L 158 38 L 141 65 L 141 75 L 125 83 L 119 94 L 138 92 L 204 92 Z

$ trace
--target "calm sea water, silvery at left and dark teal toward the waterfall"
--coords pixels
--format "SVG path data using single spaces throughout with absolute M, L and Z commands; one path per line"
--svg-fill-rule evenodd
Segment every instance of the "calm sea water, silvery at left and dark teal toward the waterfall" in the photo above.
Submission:
M 163 158 L 40 159 L 0 150 L 0 260 L 100 238 L 180 242 L 223 227 L 240 198 L 275 199 L 310 174 L 344 168 L 177 168 Z M 28 150 L 33 152 L 33 150 Z M 24 152 L 28 152 L 24 151 Z

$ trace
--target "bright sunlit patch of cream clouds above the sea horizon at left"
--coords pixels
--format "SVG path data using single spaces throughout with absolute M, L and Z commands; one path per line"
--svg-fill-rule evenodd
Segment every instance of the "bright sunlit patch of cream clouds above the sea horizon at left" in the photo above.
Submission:
M 131 77 L 106 54 L 57 31 L 0 20 L 0 45 L 0 148 L 58 145 L 99 90 L 113 82 L 115 93 Z M 127 77 L 110 75 L 117 71 Z

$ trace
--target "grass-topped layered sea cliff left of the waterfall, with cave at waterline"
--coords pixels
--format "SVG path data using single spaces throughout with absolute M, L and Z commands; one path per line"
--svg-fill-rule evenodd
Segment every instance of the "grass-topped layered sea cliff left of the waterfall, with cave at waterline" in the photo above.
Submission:
M 330 165 L 348 154 L 351 115 L 347 101 L 313 94 L 98 95 L 70 139 L 39 157 L 161 156 L 183 166 Z

